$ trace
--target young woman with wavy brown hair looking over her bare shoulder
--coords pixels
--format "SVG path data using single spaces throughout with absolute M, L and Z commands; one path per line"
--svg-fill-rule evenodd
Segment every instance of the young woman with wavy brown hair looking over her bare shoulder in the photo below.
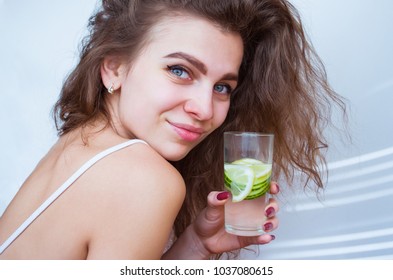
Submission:
M 276 177 L 322 187 L 323 121 L 342 103 L 287 1 L 103 0 L 89 27 L 55 105 L 59 140 L 0 219 L 0 258 L 206 259 L 269 243 L 223 229 L 227 130 L 274 133 Z M 271 199 L 267 232 L 277 211 Z

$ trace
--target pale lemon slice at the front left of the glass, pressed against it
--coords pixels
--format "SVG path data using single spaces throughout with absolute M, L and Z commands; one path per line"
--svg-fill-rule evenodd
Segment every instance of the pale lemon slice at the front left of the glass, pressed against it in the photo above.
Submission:
M 225 184 L 230 188 L 232 201 L 239 202 L 247 197 L 254 184 L 254 171 L 245 165 L 224 165 Z

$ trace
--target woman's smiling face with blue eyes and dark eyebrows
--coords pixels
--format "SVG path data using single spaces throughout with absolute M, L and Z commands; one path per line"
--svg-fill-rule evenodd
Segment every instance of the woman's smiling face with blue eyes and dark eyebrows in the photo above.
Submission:
M 163 20 L 123 74 L 117 130 L 182 159 L 224 122 L 242 56 L 238 34 L 195 17 Z

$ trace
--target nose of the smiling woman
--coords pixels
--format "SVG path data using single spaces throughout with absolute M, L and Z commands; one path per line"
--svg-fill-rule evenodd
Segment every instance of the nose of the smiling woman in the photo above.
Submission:
M 184 111 L 199 121 L 213 118 L 213 92 L 211 88 L 199 89 L 191 93 L 184 104 Z

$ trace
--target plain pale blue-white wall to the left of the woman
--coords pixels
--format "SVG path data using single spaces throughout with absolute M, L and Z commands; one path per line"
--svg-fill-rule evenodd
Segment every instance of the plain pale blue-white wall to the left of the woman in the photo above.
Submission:
M 56 140 L 51 109 L 95 1 L 0 2 L 0 213 Z

